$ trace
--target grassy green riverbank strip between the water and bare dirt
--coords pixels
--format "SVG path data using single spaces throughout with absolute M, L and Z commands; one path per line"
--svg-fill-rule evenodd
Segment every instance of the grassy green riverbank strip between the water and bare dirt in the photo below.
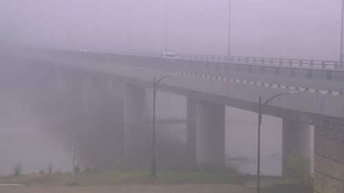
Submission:
M 244 183 L 254 177 L 230 172 L 158 172 L 156 179 L 149 172 L 80 172 L 76 183 L 72 183 L 72 173 L 28 174 L 18 177 L 0 177 L 0 183 L 21 183 L 25 185 L 159 185 L 197 183 Z

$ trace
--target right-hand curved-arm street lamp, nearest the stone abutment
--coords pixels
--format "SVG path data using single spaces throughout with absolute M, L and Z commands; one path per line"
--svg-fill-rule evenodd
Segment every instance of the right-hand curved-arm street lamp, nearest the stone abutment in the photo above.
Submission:
M 261 97 L 259 97 L 259 105 L 258 105 L 258 154 L 257 154 L 257 193 L 260 193 L 260 127 L 261 127 L 261 117 L 263 115 L 263 111 L 272 99 L 277 98 L 281 95 L 288 95 L 291 93 L 297 93 L 297 91 L 289 91 L 288 93 L 280 93 L 278 95 L 272 96 L 272 98 L 269 98 L 266 100 L 266 102 L 261 103 Z

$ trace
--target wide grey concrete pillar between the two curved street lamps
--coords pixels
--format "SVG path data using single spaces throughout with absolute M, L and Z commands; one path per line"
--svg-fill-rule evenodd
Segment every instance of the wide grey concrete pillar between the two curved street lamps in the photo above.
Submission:
M 196 106 L 196 161 L 200 168 L 224 167 L 225 106 L 200 101 Z

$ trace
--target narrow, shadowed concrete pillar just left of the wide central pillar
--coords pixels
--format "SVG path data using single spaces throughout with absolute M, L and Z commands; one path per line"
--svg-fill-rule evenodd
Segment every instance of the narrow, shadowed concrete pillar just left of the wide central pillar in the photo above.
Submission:
M 186 100 L 186 126 L 187 126 L 187 155 L 188 168 L 196 168 L 196 105 L 197 100 L 187 98 Z

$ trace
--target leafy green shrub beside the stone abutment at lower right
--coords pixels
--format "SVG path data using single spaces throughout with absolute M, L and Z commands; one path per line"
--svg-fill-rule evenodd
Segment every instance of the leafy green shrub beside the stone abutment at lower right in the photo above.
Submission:
M 288 159 L 284 173 L 290 177 L 290 183 L 297 193 L 310 193 L 314 189 L 314 177 L 310 172 L 312 161 L 299 148 Z

